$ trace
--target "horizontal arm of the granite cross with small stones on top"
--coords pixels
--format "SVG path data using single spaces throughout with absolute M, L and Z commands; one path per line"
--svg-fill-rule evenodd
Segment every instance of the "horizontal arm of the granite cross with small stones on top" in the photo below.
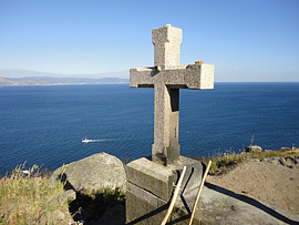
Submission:
M 173 89 L 214 89 L 213 64 L 136 68 L 130 70 L 131 88 L 154 88 L 156 83 Z

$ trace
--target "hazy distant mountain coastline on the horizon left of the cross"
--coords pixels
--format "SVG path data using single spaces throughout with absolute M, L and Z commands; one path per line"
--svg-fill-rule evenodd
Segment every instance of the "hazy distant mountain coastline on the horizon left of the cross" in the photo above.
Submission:
M 99 74 L 75 74 L 73 78 L 62 74 L 44 73 L 25 70 L 0 70 L 0 85 L 60 85 L 60 84 L 104 84 L 104 83 L 128 83 L 128 79 L 114 78 L 124 72 L 111 72 Z M 64 74 L 65 75 L 65 74 Z M 107 76 L 104 76 L 107 75 Z M 99 76 L 99 78 L 87 78 Z M 102 76 L 102 78 L 101 78 Z

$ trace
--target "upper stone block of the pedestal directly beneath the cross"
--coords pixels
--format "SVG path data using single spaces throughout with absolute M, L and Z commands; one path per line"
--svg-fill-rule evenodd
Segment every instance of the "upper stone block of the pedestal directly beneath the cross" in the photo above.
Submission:
M 194 188 L 198 188 L 203 175 L 203 165 L 196 160 L 182 155 L 176 163 L 168 166 L 156 164 L 145 157 L 128 163 L 126 165 L 127 183 L 135 184 L 159 198 L 168 201 L 184 166 L 187 170 L 182 183 L 182 191 L 188 194 Z M 134 192 L 132 191 L 132 193 Z

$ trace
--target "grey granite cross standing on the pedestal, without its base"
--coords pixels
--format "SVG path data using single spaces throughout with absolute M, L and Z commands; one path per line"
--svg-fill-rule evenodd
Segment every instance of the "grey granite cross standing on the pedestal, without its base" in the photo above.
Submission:
M 171 24 L 153 29 L 155 67 L 130 70 L 131 88 L 154 88 L 152 161 L 163 165 L 177 162 L 179 156 L 179 89 L 214 89 L 213 64 L 179 65 L 182 33 Z

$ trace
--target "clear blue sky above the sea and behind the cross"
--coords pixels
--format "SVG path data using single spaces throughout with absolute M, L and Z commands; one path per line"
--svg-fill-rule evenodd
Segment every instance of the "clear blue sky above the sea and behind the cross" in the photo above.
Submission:
M 216 81 L 299 81 L 298 0 L 0 0 L 0 69 L 128 76 L 167 23 L 181 64 L 215 64 Z

